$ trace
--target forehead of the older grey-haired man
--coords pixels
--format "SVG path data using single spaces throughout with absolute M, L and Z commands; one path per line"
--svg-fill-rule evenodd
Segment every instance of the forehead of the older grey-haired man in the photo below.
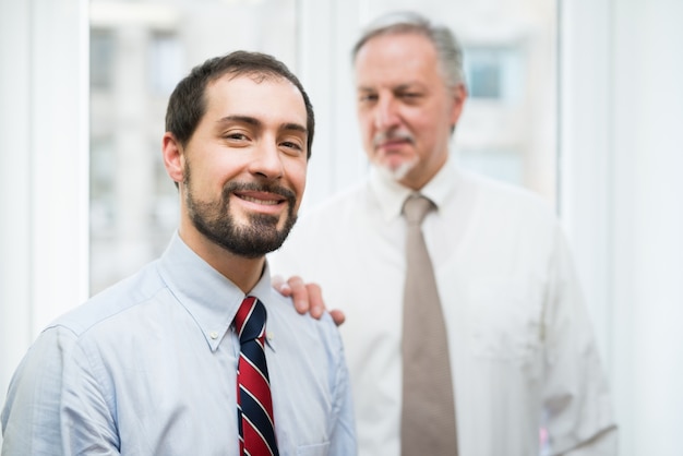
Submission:
M 358 51 L 355 70 L 359 87 L 411 82 L 432 84 L 443 80 L 432 41 L 419 33 L 371 38 Z

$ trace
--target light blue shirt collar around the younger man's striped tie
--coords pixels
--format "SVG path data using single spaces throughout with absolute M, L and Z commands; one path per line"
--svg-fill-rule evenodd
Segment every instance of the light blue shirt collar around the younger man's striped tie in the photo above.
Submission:
M 245 298 L 242 290 L 214 269 L 173 233 L 159 259 L 159 273 L 178 302 L 195 321 L 212 351 L 215 351 L 232 324 Z M 271 290 L 268 266 L 249 296 L 267 302 Z

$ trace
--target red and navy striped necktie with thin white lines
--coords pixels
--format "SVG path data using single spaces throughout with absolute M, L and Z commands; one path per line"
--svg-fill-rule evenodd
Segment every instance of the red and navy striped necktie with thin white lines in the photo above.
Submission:
M 247 297 L 235 316 L 240 339 L 237 365 L 237 421 L 240 455 L 279 455 L 275 441 L 271 381 L 265 362 L 265 307 Z

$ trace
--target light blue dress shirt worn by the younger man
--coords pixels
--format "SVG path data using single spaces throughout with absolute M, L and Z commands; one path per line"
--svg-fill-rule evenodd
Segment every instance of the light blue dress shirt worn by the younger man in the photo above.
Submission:
M 348 372 L 329 315 L 267 309 L 280 455 L 356 454 Z M 238 455 L 232 319 L 244 298 L 175 235 L 164 255 L 47 327 L 2 410 L 2 455 Z

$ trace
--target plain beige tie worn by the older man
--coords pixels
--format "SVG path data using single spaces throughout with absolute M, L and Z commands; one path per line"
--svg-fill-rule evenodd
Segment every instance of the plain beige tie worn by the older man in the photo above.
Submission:
M 403 327 L 403 456 L 457 455 L 446 326 L 420 227 L 433 207 L 431 201 L 420 195 L 409 196 L 404 205 L 408 233 Z

